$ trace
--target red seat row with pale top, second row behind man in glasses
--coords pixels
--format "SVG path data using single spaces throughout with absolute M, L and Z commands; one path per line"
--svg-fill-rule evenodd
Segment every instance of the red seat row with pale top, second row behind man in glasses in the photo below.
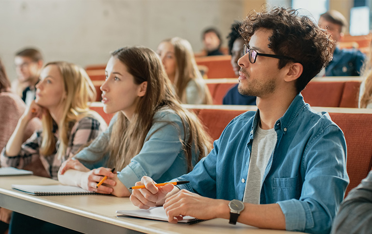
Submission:
M 304 100 L 311 106 L 358 107 L 360 77 L 314 78 L 301 92 Z M 226 92 L 238 79 L 206 80 L 213 104 L 221 105 Z

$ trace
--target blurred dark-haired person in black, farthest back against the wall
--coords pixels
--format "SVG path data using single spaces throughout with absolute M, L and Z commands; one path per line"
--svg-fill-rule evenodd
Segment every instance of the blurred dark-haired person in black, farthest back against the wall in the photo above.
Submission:
M 222 45 L 221 33 L 215 28 L 208 28 L 203 31 L 204 50 L 207 51 L 207 56 L 224 55 L 220 50 Z

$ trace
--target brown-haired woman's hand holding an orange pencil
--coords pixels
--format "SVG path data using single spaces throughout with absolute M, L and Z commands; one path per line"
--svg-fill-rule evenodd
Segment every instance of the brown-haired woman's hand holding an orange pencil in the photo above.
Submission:
M 97 184 L 105 177 L 107 179 L 97 188 Z M 116 182 L 112 179 L 115 175 L 110 168 L 99 167 L 91 171 L 82 173 L 79 186 L 87 191 L 95 191 L 97 193 L 111 194 L 113 188 L 107 185 L 115 186 Z

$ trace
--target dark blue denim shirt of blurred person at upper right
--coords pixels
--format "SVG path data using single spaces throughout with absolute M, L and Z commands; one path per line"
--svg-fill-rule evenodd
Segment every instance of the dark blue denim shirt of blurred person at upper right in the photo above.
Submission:
M 360 76 L 360 69 L 366 56 L 356 49 L 336 47 L 333 59 L 325 67 L 325 76 Z

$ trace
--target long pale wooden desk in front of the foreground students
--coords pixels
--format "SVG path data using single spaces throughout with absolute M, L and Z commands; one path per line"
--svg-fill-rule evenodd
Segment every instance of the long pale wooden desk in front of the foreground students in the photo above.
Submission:
M 228 224 L 226 219 L 212 219 L 193 225 L 171 224 L 162 221 L 116 217 L 116 210 L 137 209 L 129 198 L 111 195 L 33 196 L 11 188 L 12 184 L 59 184 L 57 181 L 37 176 L 0 177 L 0 207 L 40 218 L 83 233 L 102 234 L 240 234 L 240 233 L 289 233 L 294 232 L 257 229 L 238 223 Z

